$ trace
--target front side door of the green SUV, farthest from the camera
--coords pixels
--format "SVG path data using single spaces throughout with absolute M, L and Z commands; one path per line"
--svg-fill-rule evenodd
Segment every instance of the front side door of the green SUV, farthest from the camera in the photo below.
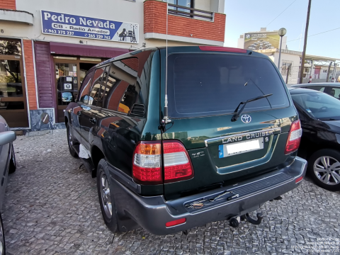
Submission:
M 71 123 L 72 123 L 72 134 L 76 139 L 81 142 L 81 130 L 80 130 L 80 123 L 79 123 L 79 117 L 81 114 L 81 106 L 86 106 L 89 104 L 89 90 L 91 87 L 91 81 L 92 78 L 94 77 L 94 69 L 90 70 L 87 74 L 86 77 L 84 78 L 82 84 L 81 84 L 81 89 L 78 97 L 78 102 L 77 104 L 74 103 L 74 107 L 72 108 L 71 111 Z

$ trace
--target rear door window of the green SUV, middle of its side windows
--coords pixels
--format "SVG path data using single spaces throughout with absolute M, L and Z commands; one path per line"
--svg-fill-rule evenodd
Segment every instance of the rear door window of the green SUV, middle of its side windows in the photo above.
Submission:
M 89 104 L 93 106 L 102 106 L 103 103 L 103 91 L 106 82 L 105 69 L 106 67 L 101 67 L 94 72 L 94 81 L 89 94 Z

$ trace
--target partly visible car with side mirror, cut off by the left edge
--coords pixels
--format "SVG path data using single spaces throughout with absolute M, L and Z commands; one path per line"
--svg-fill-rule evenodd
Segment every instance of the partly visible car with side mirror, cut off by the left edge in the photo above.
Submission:
M 0 211 L 4 202 L 8 173 L 16 171 L 16 156 L 12 144 L 14 140 L 16 140 L 16 133 L 10 130 L 6 120 L 0 115 Z M 5 253 L 4 227 L 0 213 L 0 254 Z

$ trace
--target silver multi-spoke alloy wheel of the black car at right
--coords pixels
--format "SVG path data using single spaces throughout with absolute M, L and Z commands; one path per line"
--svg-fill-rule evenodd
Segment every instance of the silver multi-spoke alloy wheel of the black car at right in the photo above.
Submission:
M 327 185 L 340 183 L 340 162 L 333 157 L 322 156 L 314 162 L 314 174 Z

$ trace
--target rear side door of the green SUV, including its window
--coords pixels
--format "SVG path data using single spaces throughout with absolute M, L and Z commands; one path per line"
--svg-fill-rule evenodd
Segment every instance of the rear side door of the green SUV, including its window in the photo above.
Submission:
M 81 126 L 81 144 L 89 150 L 94 134 L 98 131 L 96 130 L 96 122 L 103 104 L 103 91 L 108 72 L 106 68 L 108 69 L 108 66 L 100 67 L 94 72 L 88 103 L 80 105 L 81 111 L 78 113 Z

